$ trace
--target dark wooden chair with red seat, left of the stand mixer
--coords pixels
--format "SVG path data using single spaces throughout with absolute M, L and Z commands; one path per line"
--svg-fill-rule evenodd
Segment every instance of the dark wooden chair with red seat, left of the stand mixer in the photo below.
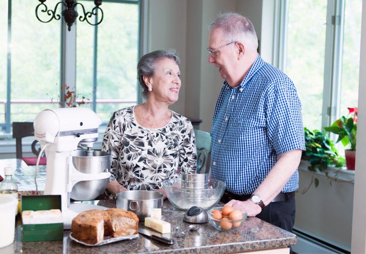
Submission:
M 37 140 L 32 143 L 32 152 L 35 157 L 23 157 L 22 138 L 34 136 L 33 122 L 13 122 L 13 138 L 16 144 L 16 157 L 21 158 L 27 165 L 36 165 L 41 148 L 36 149 Z M 42 156 L 39 165 L 46 165 L 46 157 Z

